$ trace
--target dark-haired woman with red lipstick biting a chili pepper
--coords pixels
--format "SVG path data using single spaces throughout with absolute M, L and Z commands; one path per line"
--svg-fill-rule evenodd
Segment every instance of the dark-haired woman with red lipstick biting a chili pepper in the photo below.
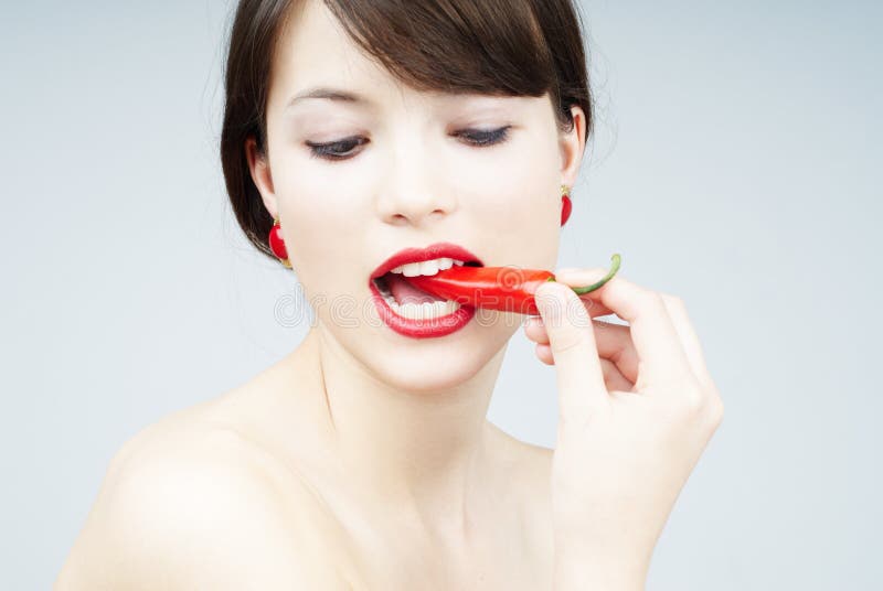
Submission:
M 593 122 L 570 0 L 243 0 L 228 51 L 231 202 L 317 322 L 124 445 L 56 589 L 641 589 L 722 417 L 683 303 L 536 291 L 553 452 L 485 418 L 524 316 L 403 279 L 554 267 Z

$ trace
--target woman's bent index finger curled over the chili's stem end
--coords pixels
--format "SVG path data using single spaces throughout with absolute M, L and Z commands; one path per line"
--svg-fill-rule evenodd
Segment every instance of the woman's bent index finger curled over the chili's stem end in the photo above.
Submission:
M 604 277 L 603 269 L 563 270 L 555 281 L 570 287 L 587 286 Z M 617 275 L 604 286 L 584 293 L 627 321 L 639 359 L 638 382 L 635 389 L 647 386 L 670 385 L 683 380 L 691 373 L 678 332 L 669 316 L 662 297 Z

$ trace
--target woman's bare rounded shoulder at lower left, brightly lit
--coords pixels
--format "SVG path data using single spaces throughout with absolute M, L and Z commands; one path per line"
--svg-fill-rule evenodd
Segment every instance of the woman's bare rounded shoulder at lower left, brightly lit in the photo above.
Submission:
M 179 411 L 127 441 L 54 589 L 349 589 L 307 486 L 235 429 Z

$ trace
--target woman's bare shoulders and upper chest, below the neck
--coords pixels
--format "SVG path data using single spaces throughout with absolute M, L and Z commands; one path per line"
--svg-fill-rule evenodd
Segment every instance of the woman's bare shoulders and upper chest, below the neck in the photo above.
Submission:
M 401 505 L 377 502 L 341 469 L 315 372 L 317 336 L 312 331 L 243 386 L 128 441 L 55 589 L 177 589 L 172 584 L 179 582 L 288 589 L 306 580 L 322 589 L 404 590 L 415 581 L 427 590 L 550 589 L 552 450 L 518 441 L 486 421 L 487 480 L 468 498 L 465 523 L 436 530 Z M 201 474 L 203 466 L 221 468 L 184 480 L 179 465 Z M 227 492 L 217 501 L 222 485 Z M 155 528 L 127 524 L 121 513 L 139 514 Z M 203 518 L 228 536 L 196 530 Z M 151 561 L 145 548 L 153 541 L 166 551 Z M 199 551 L 190 559 L 163 559 L 191 544 Z M 125 568 L 98 571 L 98 563 Z

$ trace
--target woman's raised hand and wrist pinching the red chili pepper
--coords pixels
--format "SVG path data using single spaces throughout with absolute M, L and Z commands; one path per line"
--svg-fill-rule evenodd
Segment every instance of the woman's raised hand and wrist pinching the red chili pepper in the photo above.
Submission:
M 683 302 L 621 276 L 583 296 L 566 287 L 605 272 L 556 272 L 535 292 L 541 318 L 525 322 L 557 374 L 556 589 L 643 588 L 674 501 L 723 417 Z M 629 326 L 594 320 L 611 312 Z

